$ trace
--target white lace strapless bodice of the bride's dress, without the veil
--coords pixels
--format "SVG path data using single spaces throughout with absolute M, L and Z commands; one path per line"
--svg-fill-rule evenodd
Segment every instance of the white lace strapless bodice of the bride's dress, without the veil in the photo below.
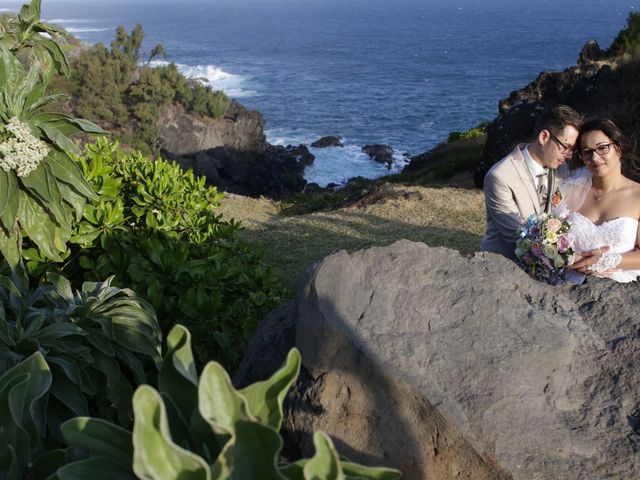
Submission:
M 638 234 L 638 220 L 630 217 L 618 217 L 596 225 L 578 212 L 568 215 L 571 221 L 573 249 L 576 253 L 593 250 L 608 245 L 610 253 L 624 253 L 634 249 Z M 640 270 L 616 270 L 605 272 L 602 276 L 618 282 L 631 282 L 640 276 Z

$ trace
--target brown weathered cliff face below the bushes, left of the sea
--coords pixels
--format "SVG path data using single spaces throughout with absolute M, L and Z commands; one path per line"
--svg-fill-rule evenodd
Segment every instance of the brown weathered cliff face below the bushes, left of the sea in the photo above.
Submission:
M 189 114 L 181 105 L 174 105 L 158 119 L 158 138 L 163 151 L 173 156 L 215 147 L 262 151 L 267 147 L 263 128 L 260 112 L 247 110 L 235 101 L 220 119 Z

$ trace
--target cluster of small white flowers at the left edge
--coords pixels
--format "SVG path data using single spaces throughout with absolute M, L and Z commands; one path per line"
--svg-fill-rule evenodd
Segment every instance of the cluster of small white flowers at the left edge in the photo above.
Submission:
M 15 170 L 19 177 L 26 177 L 49 154 L 49 147 L 34 137 L 28 125 L 16 117 L 4 128 L 13 137 L 0 143 L 0 168 L 5 172 Z

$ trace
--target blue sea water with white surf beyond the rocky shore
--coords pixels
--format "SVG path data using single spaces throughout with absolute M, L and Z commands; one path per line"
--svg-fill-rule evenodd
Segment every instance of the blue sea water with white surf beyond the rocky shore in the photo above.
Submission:
M 21 2 L 0 1 L 0 10 Z M 43 0 L 42 16 L 109 44 L 141 23 L 144 51 L 264 114 L 267 139 L 312 149 L 309 181 L 387 172 L 361 153 L 422 153 L 491 120 L 498 101 L 543 70 L 573 65 L 589 39 L 608 47 L 636 0 Z

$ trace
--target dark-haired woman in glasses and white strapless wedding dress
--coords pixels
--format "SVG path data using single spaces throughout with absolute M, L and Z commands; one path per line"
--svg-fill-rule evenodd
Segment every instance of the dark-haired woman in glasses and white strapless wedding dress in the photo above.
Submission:
M 640 183 L 622 174 L 623 135 L 611 120 L 591 120 L 578 145 L 584 167 L 563 182 L 556 209 L 572 222 L 577 255 L 569 268 L 634 281 L 640 276 Z

